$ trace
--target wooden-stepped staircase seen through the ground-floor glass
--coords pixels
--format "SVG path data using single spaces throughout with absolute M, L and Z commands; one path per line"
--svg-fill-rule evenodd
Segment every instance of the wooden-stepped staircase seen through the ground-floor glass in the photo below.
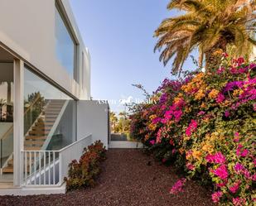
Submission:
M 25 151 L 41 150 L 64 104 L 65 100 L 51 100 L 46 104 L 44 111 L 37 117 L 25 136 Z M 7 165 L 2 168 L 2 173 L 13 173 L 13 157 L 7 160 Z

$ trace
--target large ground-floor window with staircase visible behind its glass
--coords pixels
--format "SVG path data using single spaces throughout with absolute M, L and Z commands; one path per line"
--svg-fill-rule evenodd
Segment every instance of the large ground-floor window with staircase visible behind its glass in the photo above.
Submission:
M 76 138 L 76 101 L 29 69 L 24 74 L 25 150 L 59 150 Z

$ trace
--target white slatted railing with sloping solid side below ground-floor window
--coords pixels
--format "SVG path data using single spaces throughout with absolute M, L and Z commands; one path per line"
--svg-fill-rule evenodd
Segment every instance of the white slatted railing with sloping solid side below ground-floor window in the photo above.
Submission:
M 22 151 L 23 186 L 60 186 L 68 175 L 68 165 L 79 160 L 85 147 L 92 143 L 89 135 L 60 151 Z

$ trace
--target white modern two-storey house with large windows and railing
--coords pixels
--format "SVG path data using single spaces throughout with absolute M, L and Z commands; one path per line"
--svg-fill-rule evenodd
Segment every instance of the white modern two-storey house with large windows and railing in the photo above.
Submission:
M 65 193 L 70 161 L 108 139 L 68 0 L 0 0 L 0 195 Z

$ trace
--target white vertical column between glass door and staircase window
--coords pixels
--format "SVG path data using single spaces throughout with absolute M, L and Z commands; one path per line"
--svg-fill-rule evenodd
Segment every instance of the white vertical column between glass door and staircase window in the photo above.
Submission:
M 22 184 L 22 150 L 24 134 L 24 62 L 14 60 L 14 98 L 13 98 L 13 185 Z

